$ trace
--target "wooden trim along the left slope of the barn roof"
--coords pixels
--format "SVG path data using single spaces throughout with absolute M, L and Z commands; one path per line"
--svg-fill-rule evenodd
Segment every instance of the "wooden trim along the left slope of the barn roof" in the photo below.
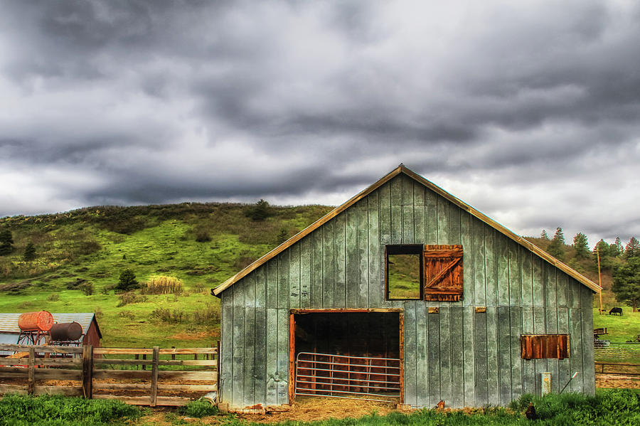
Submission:
M 282 243 L 281 245 L 275 247 L 270 252 L 267 252 L 266 255 L 260 257 L 260 259 L 256 260 L 251 265 L 245 267 L 245 269 L 241 270 L 236 275 L 233 275 L 233 277 L 230 277 L 225 282 L 220 284 L 218 287 L 215 287 L 215 289 L 213 289 L 213 295 L 214 296 L 218 296 L 218 294 L 223 292 L 225 289 L 228 289 L 229 287 L 231 287 L 235 282 L 237 282 L 240 279 L 242 279 L 243 277 L 246 277 L 247 275 L 249 275 L 250 272 L 255 270 L 257 267 L 260 267 L 261 265 L 264 265 L 266 262 L 271 260 L 273 257 L 276 257 L 279 253 L 283 252 L 284 250 L 287 250 L 287 248 L 291 247 L 292 245 L 297 243 L 299 240 L 302 240 L 302 238 L 304 238 L 306 235 L 309 235 L 310 233 L 312 233 L 317 228 L 320 228 L 322 225 L 324 225 L 325 223 L 329 222 L 329 220 L 335 218 L 337 215 L 339 215 L 340 213 L 345 211 L 347 208 L 353 206 L 353 204 L 357 203 L 362 198 L 365 198 L 370 193 L 372 193 L 376 189 L 380 188 L 380 186 L 383 186 L 385 183 L 387 183 L 391 179 L 395 178 L 395 176 L 398 176 L 400 173 L 402 173 L 403 169 L 406 169 L 406 168 L 405 168 L 405 166 L 402 166 L 402 164 L 401 164 L 396 169 L 391 171 L 389 174 L 384 176 L 382 179 L 380 179 L 379 181 L 373 183 L 373 185 L 371 185 L 368 188 L 364 189 L 363 191 L 361 191 L 360 193 L 356 194 L 355 196 L 349 198 L 348 201 L 346 201 L 346 203 L 343 203 L 340 206 L 334 208 L 334 210 L 330 211 L 329 213 L 326 213 L 326 215 L 322 216 L 321 218 L 316 220 L 314 223 L 311 223 L 311 225 L 309 225 L 306 228 L 304 228 L 303 230 L 301 230 L 299 233 L 294 235 L 292 238 L 289 238 L 289 240 L 287 240 L 284 243 Z

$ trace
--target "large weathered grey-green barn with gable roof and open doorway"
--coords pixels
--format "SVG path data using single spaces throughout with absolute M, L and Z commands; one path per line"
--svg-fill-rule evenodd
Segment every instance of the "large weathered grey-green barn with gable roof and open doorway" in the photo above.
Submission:
M 220 403 L 592 395 L 599 289 L 400 164 L 212 290 Z

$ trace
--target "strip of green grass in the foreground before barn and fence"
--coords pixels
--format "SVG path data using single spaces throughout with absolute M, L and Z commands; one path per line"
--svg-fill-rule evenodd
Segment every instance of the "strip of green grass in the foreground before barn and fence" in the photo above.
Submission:
M 533 402 L 538 420 L 528 420 L 523 412 Z M 213 415 L 217 410 L 194 402 L 177 412 L 145 415 L 129 405 L 107 400 L 82 400 L 58 396 L 9 395 L 0 400 L 0 426 L 4 425 L 260 425 L 235 415 Z M 183 416 L 191 417 L 185 420 Z M 194 419 L 193 417 L 203 417 Z M 268 418 L 268 417 L 267 417 Z M 284 426 L 387 426 L 387 425 L 640 425 L 640 395 L 630 390 L 599 390 L 597 395 L 566 393 L 543 398 L 523 395 L 509 408 L 490 407 L 465 410 L 418 410 L 409 414 L 390 412 L 354 419 L 330 418 L 315 422 L 284 421 Z M 264 425 L 264 423 L 262 423 Z

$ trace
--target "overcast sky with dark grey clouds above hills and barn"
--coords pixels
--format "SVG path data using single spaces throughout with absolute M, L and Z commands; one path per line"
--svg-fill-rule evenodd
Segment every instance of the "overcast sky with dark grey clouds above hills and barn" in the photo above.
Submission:
M 639 5 L 2 0 L 0 217 L 337 205 L 402 162 L 521 235 L 626 243 Z

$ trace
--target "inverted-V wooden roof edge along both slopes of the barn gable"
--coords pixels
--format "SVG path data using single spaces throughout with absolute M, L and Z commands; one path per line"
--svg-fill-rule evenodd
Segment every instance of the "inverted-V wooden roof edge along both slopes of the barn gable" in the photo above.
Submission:
M 544 260 L 549 262 L 551 265 L 554 265 L 559 270 L 562 270 L 562 272 L 565 272 L 570 277 L 573 277 L 573 278 L 577 279 L 578 282 L 581 282 L 585 286 L 589 287 L 590 289 L 592 289 L 592 291 L 600 292 L 600 290 L 602 290 L 602 287 L 600 287 L 598 284 L 595 284 L 590 279 L 588 279 L 584 275 L 580 274 L 580 272 L 577 272 L 576 270 L 573 270 L 571 267 L 569 267 L 569 266 L 565 265 L 564 263 L 560 262 L 560 260 L 558 260 L 555 257 L 553 257 L 548 252 L 545 252 L 544 250 L 542 250 L 537 245 L 535 245 L 533 243 L 530 243 L 528 240 L 525 240 L 520 235 L 517 235 L 516 233 L 513 233 L 513 231 L 511 231 L 508 228 L 504 227 L 500 223 L 497 223 L 495 220 L 489 218 L 489 216 L 485 215 L 481 211 L 478 211 L 475 208 L 469 206 L 469 204 L 465 203 L 464 201 L 460 200 L 459 198 L 452 196 L 447 191 L 444 191 L 444 189 L 440 188 L 439 186 L 435 185 L 434 183 L 432 183 L 430 181 L 427 181 L 427 179 L 423 178 L 419 174 L 416 174 L 414 171 L 412 171 L 410 169 L 407 169 L 407 167 L 404 164 L 400 164 L 400 166 L 398 166 L 396 169 L 394 169 L 389 174 L 384 176 L 382 179 L 380 179 L 379 181 L 373 183 L 373 185 L 369 186 L 368 188 L 366 188 L 365 190 L 363 190 L 360 193 L 356 194 L 355 196 L 351 197 L 348 201 L 346 201 L 346 203 L 343 203 L 341 206 L 338 206 L 338 207 L 334 208 L 334 210 L 330 211 L 329 213 L 327 213 L 323 217 L 319 218 L 319 220 L 316 220 L 316 222 L 314 222 L 311 225 L 307 226 L 306 228 L 301 230 L 299 233 L 294 235 L 292 238 L 289 238 L 289 240 L 287 240 L 284 243 L 282 243 L 281 245 L 275 247 L 273 250 L 268 252 L 266 255 L 260 257 L 260 259 L 256 260 L 251 265 L 245 267 L 245 269 L 241 270 L 236 275 L 233 275 L 233 277 L 230 277 L 225 282 L 223 282 L 222 284 L 218 285 L 218 287 L 215 287 L 215 289 L 212 290 L 212 294 L 214 296 L 218 296 L 225 289 L 228 289 L 233 284 L 235 284 L 235 282 L 238 282 L 243 277 L 246 277 L 247 275 L 249 275 L 250 272 L 255 270 L 257 267 L 260 267 L 260 265 L 265 264 L 268 260 L 272 259 L 273 257 L 276 257 L 279 253 L 283 252 L 284 250 L 287 250 L 287 248 L 291 247 L 292 245 L 297 243 L 299 240 L 302 240 L 302 238 L 304 238 L 306 235 L 309 235 L 311 232 L 313 232 L 317 228 L 320 228 L 322 225 L 324 225 L 325 223 L 329 222 L 329 220 L 331 220 L 332 218 L 336 217 L 338 214 L 342 213 L 343 211 L 346 211 L 347 208 L 353 206 L 358 201 L 360 201 L 362 198 L 365 198 L 370 193 L 372 193 L 376 189 L 380 188 L 380 186 L 383 186 L 385 183 L 387 183 L 391 179 L 395 178 L 395 176 L 398 176 L 400 174 L 405 174 L 405 175 L 409 176 L 410 178 L 414 179 L 415 181 L 418 181 L 418 182 L 422 183 L 422 185 L 424 185 L 427 188 L 429 188 L 430 190 L 434 191 L 434 193 L 437 193 L 439 196 L 442 196 L 443 198 L 446 198 L 451 203 L 454 203 L 454 205 L 458 206 L 459 208 L 462 208 L 462 210 L 464 210 L 467 213 L 471 214 L 472 216 L 478 218 L 479 220 L 482 220 L 484 223 L 486 223 L 487 225 L 491 226 L 491 228 L 494 228 L 494 229 L 498 230 L 498 232 L 502 233 L 503 235 L 506 235 L 506 237 L 508 237 L 508 238 L 511 238 L 511 240 L 513 240 L 516 243 L 522 245 L 526 249 L 528 249 L 531 252 L 533 252 L 535 255 L 538 255 L 539 257 L 542 257 Z

